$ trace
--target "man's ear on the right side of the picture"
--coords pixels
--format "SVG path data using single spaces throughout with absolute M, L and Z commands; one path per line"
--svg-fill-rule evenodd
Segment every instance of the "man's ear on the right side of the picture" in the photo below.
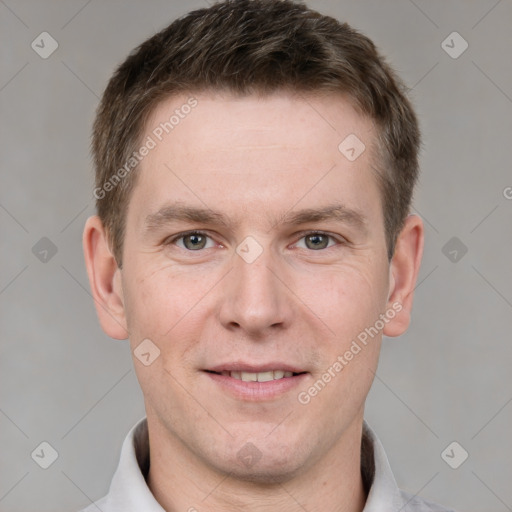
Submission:
M 409 327 L 414 288 L 423 255 L 423 222 L 409 215 L 398 235 L 389 269 L 389 298 L 386 311 L 396 315 L 384 327 L 386 336 L 400 336 Z

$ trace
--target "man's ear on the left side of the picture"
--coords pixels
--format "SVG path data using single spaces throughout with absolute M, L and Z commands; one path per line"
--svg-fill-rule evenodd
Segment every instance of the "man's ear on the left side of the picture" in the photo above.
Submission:
M 87 219 L 83 235 L 85 265 L 101 327 L 111 338 L 128 338 L 121 270 L 110 251 L 100 218 Z

